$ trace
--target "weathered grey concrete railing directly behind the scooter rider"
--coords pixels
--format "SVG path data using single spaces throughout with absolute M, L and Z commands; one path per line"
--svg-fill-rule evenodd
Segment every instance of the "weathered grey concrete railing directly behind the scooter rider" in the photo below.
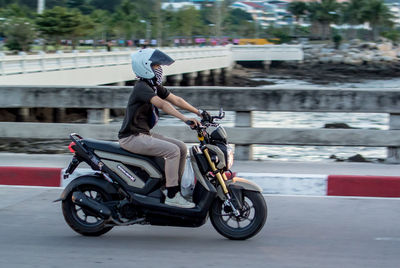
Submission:
M 88 122 L 107 118 L 109 109 L 125 108 L 131 87 L 0 87 L 0 108 L 86 108 Z M 398 89 L 287 89 L 173 87 L 171 91 L 195 107 L 235 111 L 235 127 L 227 128 L 236 144 L 238 159 L 249 159 L 251 145 L 388 147 L 388 162 L 400 162 L 400 91 Z M 388 130 L 255 128 L 254 111 L 347 112 L 390 114 Z M 99 119 L 102 120 L 99 120 Z M 116 140 L 119 125 L 0 123 L 3 138 L 67 138 L 70 132 L 84 137 Z M 196 137 L 185 126 L 164 126 L 162 131 L 185 142 Z

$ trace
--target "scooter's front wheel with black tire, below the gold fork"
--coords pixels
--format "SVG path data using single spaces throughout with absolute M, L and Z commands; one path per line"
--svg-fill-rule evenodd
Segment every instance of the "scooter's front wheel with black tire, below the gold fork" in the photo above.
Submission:
M 229 239 L 245 240 L 253 237 L 263 228 L 267 220 L 267 204 L 262 194 L 244 190 L 243 209 L 240 214 L 236 217 L 233 212 L 226 212 L 224 202 L 216 198 L 211 207 L 210 220 L 217 232 Z M 229 225 L 230 220 L 237 227 Z M 240 226 L 240 223 L 245 221 L 248 221 L 248 224 L 244 227 Z

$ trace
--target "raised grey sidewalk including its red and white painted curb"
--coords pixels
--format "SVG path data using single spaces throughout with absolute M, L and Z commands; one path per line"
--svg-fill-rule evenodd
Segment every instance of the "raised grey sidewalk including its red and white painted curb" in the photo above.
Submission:
M 0 184 L 65 187 L 72 155 L 0 153 Z M 87 172 L 81 164 L 74 173 Z M 400 165 L 343 162 L 236 161 L 236 176 L 266 194 L 400 197 Z

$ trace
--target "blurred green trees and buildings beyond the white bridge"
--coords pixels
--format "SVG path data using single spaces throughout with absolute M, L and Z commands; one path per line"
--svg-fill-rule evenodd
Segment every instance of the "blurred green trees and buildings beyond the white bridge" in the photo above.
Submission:
M 397 42 L 399 23 L 397 0 L 1 0 L 0 46 L 5 53 L 304 40 L 339 46 L 355 38 Z

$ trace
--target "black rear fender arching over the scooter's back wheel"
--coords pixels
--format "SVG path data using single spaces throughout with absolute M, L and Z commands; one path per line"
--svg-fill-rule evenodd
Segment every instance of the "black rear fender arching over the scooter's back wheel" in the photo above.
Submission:
M 115 187 L 110 182 L 103 179 L 101 175 L 84 175 L 74 179 L 71 183 L 69 183 L 68 186 L 65 187 L 64 191 L 61 193 L 60 198 L 54 200 L 54 202 L 64 201 L 67 198 L 68 194 L 73 191 L 73 189 L 75 189 L 79 185 L 85 184 L 95 185 L 111 195 L 118 194 L 117 189 L 115 189 Z

